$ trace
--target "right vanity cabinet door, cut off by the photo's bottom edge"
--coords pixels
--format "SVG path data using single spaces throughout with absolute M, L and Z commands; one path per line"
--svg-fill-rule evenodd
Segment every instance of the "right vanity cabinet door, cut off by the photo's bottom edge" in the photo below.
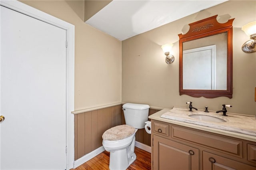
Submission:
M 203 151 L 203 170 L 256 170 L 256 167 Z

